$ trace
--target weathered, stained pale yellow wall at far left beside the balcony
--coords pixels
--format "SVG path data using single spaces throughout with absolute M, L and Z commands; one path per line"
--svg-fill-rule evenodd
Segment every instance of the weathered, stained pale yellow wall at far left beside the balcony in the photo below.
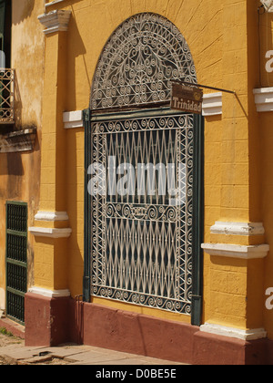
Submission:
M 37 129 L 35 150 L 0 153 L 0 305 L 5 307 L 5 202 L 28 202 L 29 223 L 39 202 L 44 36 L 37 34 L 42 0 L 13 0 L 11 67 L 15 68 L 15 129 Z M 35 64 L 35 67 L 34 67 Z M 28 238 L 28 285 L 33 280 L 34 238 Z

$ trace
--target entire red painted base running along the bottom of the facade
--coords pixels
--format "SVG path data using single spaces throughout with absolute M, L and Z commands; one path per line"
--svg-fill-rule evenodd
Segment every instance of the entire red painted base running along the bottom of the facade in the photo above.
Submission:
M 25 296 L 25 345 L 75 342 L 191 365 L 273 365 L 273 342 L 245 342 L 196 326 L 71 298 Z

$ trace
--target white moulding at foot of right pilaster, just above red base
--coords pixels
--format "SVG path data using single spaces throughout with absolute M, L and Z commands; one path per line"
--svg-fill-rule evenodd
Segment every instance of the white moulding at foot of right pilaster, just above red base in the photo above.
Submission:
M 268 336 L 264 328 L 241 330 L 239 328 L 213 325 L 210 323 L 206 323 L 205 325 L 200 326 L 200 331 L 217 336 L 235 337 L 245 341 L 263 339 Z

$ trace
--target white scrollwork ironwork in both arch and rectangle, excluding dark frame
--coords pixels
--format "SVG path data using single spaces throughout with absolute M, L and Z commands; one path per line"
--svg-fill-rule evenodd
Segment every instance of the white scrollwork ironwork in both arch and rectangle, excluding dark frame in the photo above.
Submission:
M 185 38 L 163 16 L 133 16 L 118 26 L 99 58 L 90 109 L 169 101 L 176 79 L 197 83 Z M 172 186 L 184 192 L 172 205 L 169 190 L 139 192 L 136 176 L 134 192 L 109 193 L 106 182 L 106 194 L 92 197 L 91 294 L 191 315 L 193 116 L 108 119 L 92 123 L 93 162 L 106 170 L 110 157 L 135 170 L 139 163 L 174 164 Z

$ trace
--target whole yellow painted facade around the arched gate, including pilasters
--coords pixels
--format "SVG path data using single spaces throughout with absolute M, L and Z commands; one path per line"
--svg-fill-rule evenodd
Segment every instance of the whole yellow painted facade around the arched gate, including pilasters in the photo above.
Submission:
M 18 47 L 13 45 L 13 66 L 18 67 L 22 89 L 22 121 L 38 126 L 40 148 L 22 156 L 22 190 L 15 196 L 6 193 L 8 156 L 0 154 L 0 215 L 5 216 L 6 199 L 18 198 L 29 202 L 29 226 L 72 229 L 69 238 L 63 239 L 29 234 L 34 254 L 29 280 L 39 288 L 68 289 L 72 297 L 82 294 L 85 132 L 64 129 L 63 113 L 88 108 L 98 58 L 116 27 L 137 13 L 157 13 L 186 38 L 198 83 L 236 92 L 223 92 L 222 115 L 205 118 L 204 243 L 270 246 L 266 258 L 253 260 L 205 251 L 202 323 L 242 330 L 264 328 L 273 340 L 273 310 L 265 305 L 265 292 L 273 287 L 273 114 L 258 113 L 253 95 L 255 88 L 273 86 L 264 58 L 273 49 L 272 14 L 260 16 L 258 37 L 258 0 L 46 1 L 46 13 L 67 10 L 71 17 L 67 32 L 44 36 L 37 19 L 45 13 L 44 2 L 33 2 L 32 12 L 25 17 L 22 4 L 27 2 L 13 3 L 20 3 L 13 15 L 17 20 L 13 38 L 19 42 Z M 28 50 L 21 43 L 25 30 Z M 31 48 L 30 42 L 35 42 Z M 205 94 L 211 92 L 205 90 Z M 67 212 L 68 221 L 34 221 L 38 211 Z M 211 233 L 216 222 L 263 223 L 265 233 Z M 0 243 L 5 243 L 5 220 L 0 225 Z M 5 246 L 0 251 L 0 288 L 5 289 Z M 92 302 L 190 323 L 188 316 L 166 311 L 95 297 Z

